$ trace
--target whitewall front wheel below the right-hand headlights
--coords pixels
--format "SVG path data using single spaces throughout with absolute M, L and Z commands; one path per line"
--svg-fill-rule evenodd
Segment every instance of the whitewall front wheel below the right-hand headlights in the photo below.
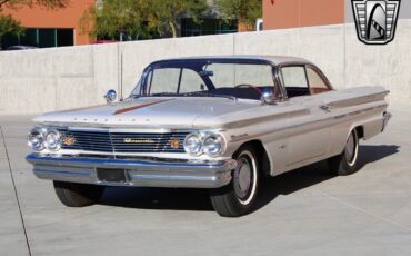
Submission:
M 238 161 L 231 183 L 211 193 L 215 211 L 224 217 L 239 217 L 252 211 L 259 185 L 259 161 L 255 150 L 244 146 L 234 155 Z

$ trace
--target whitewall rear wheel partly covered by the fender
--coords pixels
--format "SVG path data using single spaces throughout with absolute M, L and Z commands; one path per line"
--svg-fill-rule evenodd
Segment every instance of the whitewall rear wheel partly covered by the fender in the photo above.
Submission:
M 359 137 L 357 130 L 352 130 L 347 144 L 344 151 L 338 156 L 331 157 L 328 160 L 329 168 L 332 174 L 335 175 L 351 175 L 357 170 L 359 155 Z

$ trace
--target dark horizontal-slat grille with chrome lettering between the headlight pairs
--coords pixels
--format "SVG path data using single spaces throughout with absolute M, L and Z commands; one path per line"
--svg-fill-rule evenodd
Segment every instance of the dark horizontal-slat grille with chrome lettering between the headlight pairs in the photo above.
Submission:
M 72 145 L 62 144 L 63 149 L 101 152 L 184 152 L 183 142 L 189 131 L 183 132 L 116 132 L 109 130 L 68 130 L 61 129 L 62 141 L 73 139 Z M 131 140 L 131 142 L 126 142 Z M 178 140 L 179 147 L 171 147 Z

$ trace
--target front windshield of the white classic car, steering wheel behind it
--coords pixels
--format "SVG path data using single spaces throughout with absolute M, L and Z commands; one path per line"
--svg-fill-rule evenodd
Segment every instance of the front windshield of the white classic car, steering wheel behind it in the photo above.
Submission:
M 150 66 L 132 96 L 225 96 L 259 100 L 267 88 L 274 90 L 272 66 L 268 63 L 177 60 Z

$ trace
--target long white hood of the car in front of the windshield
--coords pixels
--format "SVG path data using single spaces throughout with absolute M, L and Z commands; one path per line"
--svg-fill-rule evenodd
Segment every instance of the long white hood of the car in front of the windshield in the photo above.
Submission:
M 196 120 L 221 120 L 221 117 L 261 106 L 255 100 L 198 97 L 146 97 L 89 108 L 49 112 L 36 122 L 96 127 L 194 128 Z M 207 124 L 200 121 L 198 126 Z M 211 126 L 212 127 L 212 126 Z

